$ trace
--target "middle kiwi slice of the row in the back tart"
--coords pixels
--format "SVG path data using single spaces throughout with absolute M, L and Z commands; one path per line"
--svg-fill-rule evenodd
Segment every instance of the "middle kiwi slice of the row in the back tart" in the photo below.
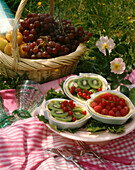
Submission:
M 90 85 L 88 83 L 88 78 L 87 77 L 82 77 L 82 78 L 78 79 L 78 86 L 81 89 L 89 89 Z

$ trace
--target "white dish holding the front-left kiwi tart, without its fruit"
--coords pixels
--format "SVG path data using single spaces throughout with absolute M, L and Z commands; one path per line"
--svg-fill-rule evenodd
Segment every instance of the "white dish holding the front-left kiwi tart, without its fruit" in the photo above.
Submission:
M 89 111 L 87 110 L 87 108 L 85 106 L 79 105 L 78 103 L 75 103 L 75 102 L 74 103 L 75 103 L 76 106 L 81 106 L 83 110 L 87 111 L 87 114 L 83 118 L 81 118 L 79 120 L 76 120 L 75 122 L 63 122 L 63 121 L 59 121 L 59 120 L 56 120 L 50 114 L 50 111 L 48 109 L 48 104 L 51 101 L 64 101 L 64 100 L 67 100 L 67 99 L 54 98 L 54 99 L 46 101 L 44 116 L 45 116 L 46 119 L 48 119 L 49 124 L 55 125 L 55 126 L 57 126 L 57 128 L 60 128 L 60 129 L 75 129 L 75 128 L 80 128 L 83 125 L 85 125 L 87 123 L 88 119 L 91 117 L 91 114 L 89 113 Z

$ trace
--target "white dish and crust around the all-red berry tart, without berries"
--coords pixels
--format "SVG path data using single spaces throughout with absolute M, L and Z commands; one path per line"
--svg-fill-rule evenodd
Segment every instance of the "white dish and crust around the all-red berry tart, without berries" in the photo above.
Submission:
M 97 98 L 98 96 L 105 94 L 105 93 L 111 93 L 111 94 L 117 95 L 117 96 L 125 99 L 126 104 L 128 105 L 128 107 L 130 109 L 129 113 L 123 117 L 122 116 L 115 117 L 115 116 L 109 116 L 109 115 L 102 115 L 102 114 L 96 112 L 90 105 L 95 100 L 95 98 Z M 118 92 L 118 91 L 113 91 L 113 90 L 105 90 L 105 91 L 101 91 L 96 94 L 93 94 L 91 99 L 87 100 L 86 106 L 94 119 L 101 121 L 103 123 L 107 123 L 107 124 L 116 124 L 116 125 L 124 124 L 131 116 L 133 116 L 133 114 L 135 114 L 135 107 L 132 104 L 132 102 L 130 101 L 130 99 L 127 96 L 125 96 L 123 93 Z

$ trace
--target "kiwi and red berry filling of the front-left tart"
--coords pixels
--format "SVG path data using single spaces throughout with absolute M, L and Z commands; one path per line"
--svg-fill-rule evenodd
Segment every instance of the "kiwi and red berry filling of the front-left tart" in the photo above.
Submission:
M 90 117 L 86 107 L 74 103 L 73 100 L 51 100 L 46 104 L 45 110 L 51 119 L 65 123 L 80 122 Z

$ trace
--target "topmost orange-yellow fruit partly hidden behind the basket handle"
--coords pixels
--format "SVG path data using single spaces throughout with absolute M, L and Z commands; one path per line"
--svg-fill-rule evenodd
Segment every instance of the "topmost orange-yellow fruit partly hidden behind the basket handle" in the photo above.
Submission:
M 9 41 L 9 42 L 12 42 L 12 30 L 10 30 L 9 32 L 6 33 L 6 39 Z M 17 43 L 18 45 L 21 45 L 22 44 L 22 41 L 23 41 L 23 35 L 21 34 L 21 32 L 17 32 Z

